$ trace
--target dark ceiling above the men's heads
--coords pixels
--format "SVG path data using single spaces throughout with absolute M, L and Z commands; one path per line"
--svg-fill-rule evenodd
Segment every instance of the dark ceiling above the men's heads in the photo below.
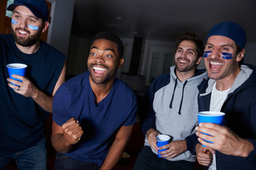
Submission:
M 256 0 L 75 0 L 73 33 L 111 30 L 124 38 L 174 41 L 184 32 L 202 40 L 210 28 L 233 21 L 256 42 Z

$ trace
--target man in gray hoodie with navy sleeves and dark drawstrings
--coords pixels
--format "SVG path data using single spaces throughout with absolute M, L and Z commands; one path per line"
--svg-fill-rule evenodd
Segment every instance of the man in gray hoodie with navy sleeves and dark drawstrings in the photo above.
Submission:
M 194 169 L 196 157 L 186 151 L 185 138 L 198 124 L 198 84 L 206 79 L 205 69 L 196 69 L 203 56 L 203 42 L 194 33 L 176 40 L 175 66 L 157 77 L 139 109 L 146 135 L 134 169 Z M 157 147 L 157 135 L 169 135 L 171 142 Z M 159 149 L 167 149 L 158 157 Z

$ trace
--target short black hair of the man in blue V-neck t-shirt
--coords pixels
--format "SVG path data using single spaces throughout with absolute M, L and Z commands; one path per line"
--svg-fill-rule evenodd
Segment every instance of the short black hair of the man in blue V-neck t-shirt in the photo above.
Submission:
M 99 40 L 99 39 L 110 40 L 110 41 L 116 43 L 119 58 L 123 57 L 124 43 L 122 42 L 122 40 L 120 40 L 120 38 L 117 35 L 115 35 L 114 33 L 111 33 L 110 31 L 101 31 L 100 33 L 97 33 L 92 38 L 91 46 L 92 46 L 93 42 L 95 42 L 95 40 Z

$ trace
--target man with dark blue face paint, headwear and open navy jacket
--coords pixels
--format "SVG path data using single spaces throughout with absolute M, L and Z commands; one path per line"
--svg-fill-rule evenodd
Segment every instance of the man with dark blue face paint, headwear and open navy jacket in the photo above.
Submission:
M 256 68 L 242 62 L 245 42 L 245 30 L 233 22 L 208 33 L 203 57 L 209 79 L 198 86 L 198 110 L 224 112 L 225 123 L 200 123 L 186 138 L 206 169 L 256 169 Z

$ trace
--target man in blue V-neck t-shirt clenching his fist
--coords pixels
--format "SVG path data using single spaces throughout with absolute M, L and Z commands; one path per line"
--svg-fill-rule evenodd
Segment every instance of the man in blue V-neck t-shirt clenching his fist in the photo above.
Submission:
M 112 169 L 136 121 L 137 99 L 117 79 L 124 46 L 110 32 L 92 38 L 89 72 L 60 86 L 53 98 L 55 169 Z

